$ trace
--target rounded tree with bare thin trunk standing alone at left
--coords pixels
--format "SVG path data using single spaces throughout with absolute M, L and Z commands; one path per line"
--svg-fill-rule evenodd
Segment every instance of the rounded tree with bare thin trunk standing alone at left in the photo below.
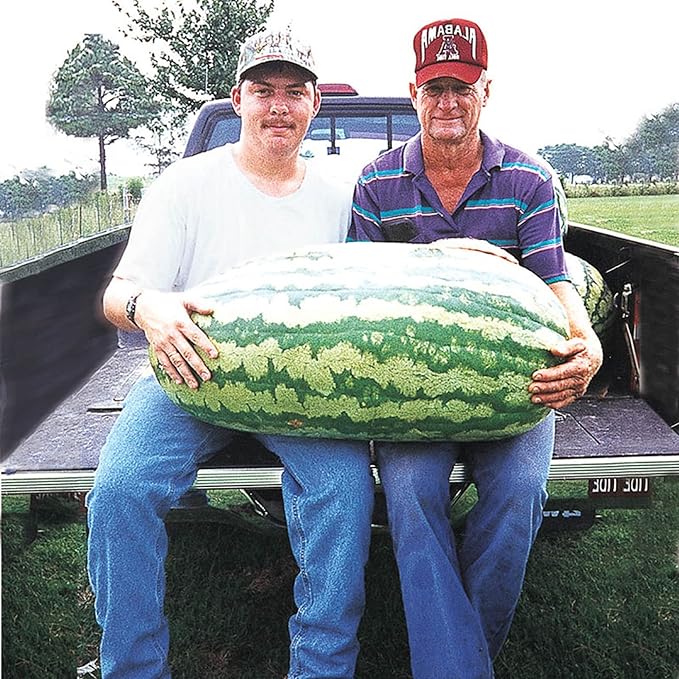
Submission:
M 68 53 L 52 79 L 47 119 L 66 134 L 98 139 L 102 191 L 107 188 L 106 145 L 127 138 L 158 112 L 147 85 L 118 45 L 97 33 Z

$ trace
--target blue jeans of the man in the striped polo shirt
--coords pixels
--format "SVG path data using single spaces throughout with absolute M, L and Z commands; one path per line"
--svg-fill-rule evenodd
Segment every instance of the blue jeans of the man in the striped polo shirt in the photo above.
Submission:
M 542 522 L 554 415 L 488 443 L 380 443 L 414 679 L 489 679 Z M 448 480 L 460 455 L 478 502 L 456 544 Z

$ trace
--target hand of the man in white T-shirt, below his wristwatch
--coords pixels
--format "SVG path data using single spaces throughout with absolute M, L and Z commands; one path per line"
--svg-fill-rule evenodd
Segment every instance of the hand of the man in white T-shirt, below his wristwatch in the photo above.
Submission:
M 191 320 L 190 313 L 209 315 L 212 307 L 188 293 L 144 290 L 137 299 L 135 320 L 153 347 L 161 368 L 177 384 L 186 382 L 197 389 L 199 382 L 209 380 L 207 366 L 194 349 L 200 347 L 212 358 L 217 349 L 207 335 Z

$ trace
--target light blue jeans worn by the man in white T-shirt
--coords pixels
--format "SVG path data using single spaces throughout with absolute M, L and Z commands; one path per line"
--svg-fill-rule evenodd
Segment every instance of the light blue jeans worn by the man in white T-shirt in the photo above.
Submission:
M 105 679 L 170 677 L 164 518 L 192 486 L 198 466 L 232 437 L 230 430 L 172 404 L 153 376 L 130 391 L 87 498 L 88 573 L 102 628 Z M 288 533 L 299 567 L 288 676 L 349 679 L 358 654 L 370 544 L 374 485 L 368 448 L 358 442 L 257 438 L 284 464 Z

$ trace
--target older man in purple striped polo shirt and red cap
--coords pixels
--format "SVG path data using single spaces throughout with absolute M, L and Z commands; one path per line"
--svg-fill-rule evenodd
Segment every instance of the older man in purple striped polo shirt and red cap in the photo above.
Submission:
M 422 131 L 364 170 L 349 237 L 459 238 L 460 247 L 479 249 L 490 249 L 489 241 L 535 272 L 565 307 L 571 339 L 553 348 L 562 365 L 533 376 L 530 397 L 563 407 L 585 392 L 602 352 L 568 281 L 550 174 L 479 130 L 490 81 L 475 23 L 435 21 L 413 45 L 410 94 Z M 377 445 L 414 679 L 493 676 L 542 520 L 553 441 L 551 414 L 522 436 L 492 443 Z M 456 544 L 449 477 L 461 455 L 479 500 Z

